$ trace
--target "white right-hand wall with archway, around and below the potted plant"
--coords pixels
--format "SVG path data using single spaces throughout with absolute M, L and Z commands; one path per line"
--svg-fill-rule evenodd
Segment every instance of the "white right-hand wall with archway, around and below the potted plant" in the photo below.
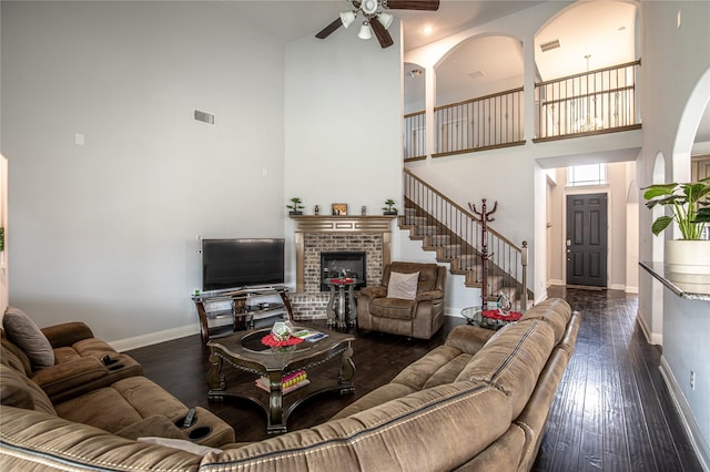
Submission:
M 657 154 L 666 162 L 666 181 L 690 177 L 690 148 L 694 131 L 680 130 L 686 111 L 708 103 L 710 96 L 710 2 L 647 1 L 641 2 L 645 32 L 642 34 L 643 152 L 639 163 L 639 187 L 652 183 Z M 680 19 L 680 22 L 679 22 Z M 702 81 L 702 82 L 701 82 Z M 697 88 L 702 84 L 702 90 Z M 702 110 L 701 109 L 701 110 Z M 700 110 L 699 113 L 702 113 Z M 696 123 L 700 115 L 696 116 Z M 682 143 L 682 146 L 679 146 Z M 651 260 L 651 212 L 639 205 L 640 259 Z M 669 233 L 669 232 L 666 232 Z M 668 234 L 665 237 L 670 238 Z M 696 423 L 694 439 L 704 452 L 701 458 L 710 466 L 710 383 L 707 362 L 710 357 L 708 314 L 710 301 L 684 300 L 663 294 L 662 326 L 652 317 L 656 301 L 650 275 L 640 273 L 639 315 L 651 331 L 663 339 L 663 361 L 671 369 L 671 390 L 683 411 L 690 411 Z M 702 315 L 701 315 L 702 314 Z M 699 362 L 700 360 L 700 362 Z M 696 390 L 689 386 L 690 369 L 697 369 Z M 687 409 L 686 409 L 687 408 Z

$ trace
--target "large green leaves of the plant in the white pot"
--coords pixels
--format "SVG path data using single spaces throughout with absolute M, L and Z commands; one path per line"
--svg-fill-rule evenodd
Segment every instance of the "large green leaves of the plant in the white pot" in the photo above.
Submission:
M 700 239 L 706 223 L 710 223 L 710 177 L 684 184 L 657 184 L 645 188 L 646 206 L 668 206 L 671 216 L 659 216 L 651 224 L 658 236 L 676 222 L 683 239 Z

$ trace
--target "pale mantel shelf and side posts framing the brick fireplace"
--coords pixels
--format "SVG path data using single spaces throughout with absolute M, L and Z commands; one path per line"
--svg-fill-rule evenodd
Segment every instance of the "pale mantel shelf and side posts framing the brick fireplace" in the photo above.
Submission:
M 295 223 L 296 246 L 296 293 L 304 291 L 305 235 L 307 234 L 375 234 L 382 236 L 383 267 L 390 260 L 392 220 L 396 216 L 349 216 L 349 215 L 290 215 Z M 320 281 L 318 281 L 320 284 Z

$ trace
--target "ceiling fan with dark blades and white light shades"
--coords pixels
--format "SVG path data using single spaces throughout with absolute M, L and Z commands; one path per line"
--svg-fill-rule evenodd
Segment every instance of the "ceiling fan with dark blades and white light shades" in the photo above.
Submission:
M 394 17 L 390 13 L 379 10 L 425 10 L 436 11 L 439 9 L 439 0 L 349 0 L 354 10 L 344 11 L 341 17 L 321 30 L 315 37 L 326 39 L 342 25 L 349 27 L 357 14 L 362 13 L 365 20 L 357 37 L 359 39 L 371 39 L 372 31 L 375 31 L 377 41 L 383 48 L 394 44 L 387 28 L 392 24 Z M 371 31 L 372 28 L 372 31 Z

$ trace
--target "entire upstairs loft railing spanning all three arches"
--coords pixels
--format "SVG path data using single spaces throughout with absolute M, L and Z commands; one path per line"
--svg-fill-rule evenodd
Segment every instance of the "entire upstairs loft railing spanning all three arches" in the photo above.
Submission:
M 641 61 L 539 82 L 434 109 L 433 157 L 526 143 L 525 104 L 534 103 L 534 143 L 641 127 L 637 79 Z M 404 116 L 405 161 L 426 158 L 426 112 Z

